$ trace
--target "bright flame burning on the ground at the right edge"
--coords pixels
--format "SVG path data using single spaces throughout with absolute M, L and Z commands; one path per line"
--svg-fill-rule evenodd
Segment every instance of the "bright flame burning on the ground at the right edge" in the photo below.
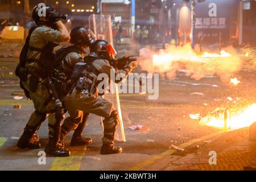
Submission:
M 226 110 L 226 114 L 221 113 L 217 116 L 207 115 L 201 118 L 200 123 L 207 126 L 220 127 L 235 130 L 242 127 L 249 127 L 256 121 L 256 104 L 247 107 L 238 113 L 231 113 Z

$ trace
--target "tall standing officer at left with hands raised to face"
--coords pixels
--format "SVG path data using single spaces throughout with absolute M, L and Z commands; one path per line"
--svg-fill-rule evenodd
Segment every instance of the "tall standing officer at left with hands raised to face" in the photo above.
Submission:
M 46 16 L 40 17 L 39 11 L 44 12 L 42 8 L 46 9 Z M 56 58 L 53 53 L 56 44 L 53 42 L 68 42 L 69 33 L 60 21 L 62 17 L 55 13 L 51 6 L 34 7 L 32 18 L 36 26 L 31 28 L 20 53 L 16 75 L 20 78 L 20 86 L 25 90 L 26 96 L 34 102 L 35 111 L 31 114 L 17 146 L 40 148 L 36 131 L 48 117 L 49 142 L 46 153 L 53 156 L 69 156 L 69 151 L 59 145 L 60 122 L 64 111 L 56 94 L 55 85 L 51 81 L 51 72 Z

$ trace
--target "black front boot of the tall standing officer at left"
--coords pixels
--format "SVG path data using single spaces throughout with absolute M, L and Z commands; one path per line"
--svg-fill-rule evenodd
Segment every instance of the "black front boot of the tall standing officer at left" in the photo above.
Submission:
M 56 157 L 68 157 L 70 155 L 69 150 L 65 150 L 64 146 L 61 146 L 59 141 L 52 137 L 49 137 L 49 142 L 44 151 L 47 155 Z

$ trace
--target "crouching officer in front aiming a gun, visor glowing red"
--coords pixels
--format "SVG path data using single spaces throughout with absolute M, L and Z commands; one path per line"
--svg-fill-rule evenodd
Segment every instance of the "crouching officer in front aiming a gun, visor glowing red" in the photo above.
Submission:
M 114 146 L 115 130 L 119 122 L 118 112 L 108 100 L 98 96 L 97 86 L 100 80 L 98 75 L 106 73 L 110 78 L 111 71 L 115 75 L 129 73 L 137 67 L 137 61 L 132 61 L 122 69 L 115 69 L 110 65 L 110 60 L 115 54 L 114 48 L 104 40 L 97 40 L 90 46 L 90 54 L 84 58 L 85 63 L 78 63 L 72 74 L 73 86 L 63 102 L 67 108 L 70 118 L 74 121 L 80 111 L 93 113 L 104 117 L 104 137 L 102 138 L 101 154 L 118 154 L 122 152 L 121 147 Z M 119 82 L 119 81 L 118 81 Z M 76 123 L 64 121 L 65 127 L 61 127 L 61 140 L 64 142 L 66 135 L 76 127 Z M 69 126 L 69 127 L 67 127 Z

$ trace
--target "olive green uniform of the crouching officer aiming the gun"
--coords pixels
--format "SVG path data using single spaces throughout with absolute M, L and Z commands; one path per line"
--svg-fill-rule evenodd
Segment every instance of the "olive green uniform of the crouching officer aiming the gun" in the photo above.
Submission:
M 110 78 L 111 70 L 114 68 L 110 65 L 108 60 L 96 59 L 92 61 L 92 65 L 97 69 L 99 73 L 106 73 Z M 131 68 L 122 69 L 116 71 L 118 73 L 124 73 L 128 75 L 131 72 Z M 92 73 L 94 74 L 94 73 Z M 97 76 L 98 74 L 94 74 Z M 72 93 L 68 94 L 63 100 L 65 107 L 67 108 L 70 120 L 64 121 L 65 128 L 61 127 L 61 133 L 67 134 L 77 127 L 75 121 L 79 118 L 82 113 L 93 113 L 104 117 L 104 137 L 102 138 L 103 144 L 113 145 L 114 144 L 114 133 L 118 125 L 118 113 L 114 105 L 108 100 L 98 96 L 97 89 L 96 93 L 89 97 L 89 94 L 81 94 L 76 88 L 71 90 Z

